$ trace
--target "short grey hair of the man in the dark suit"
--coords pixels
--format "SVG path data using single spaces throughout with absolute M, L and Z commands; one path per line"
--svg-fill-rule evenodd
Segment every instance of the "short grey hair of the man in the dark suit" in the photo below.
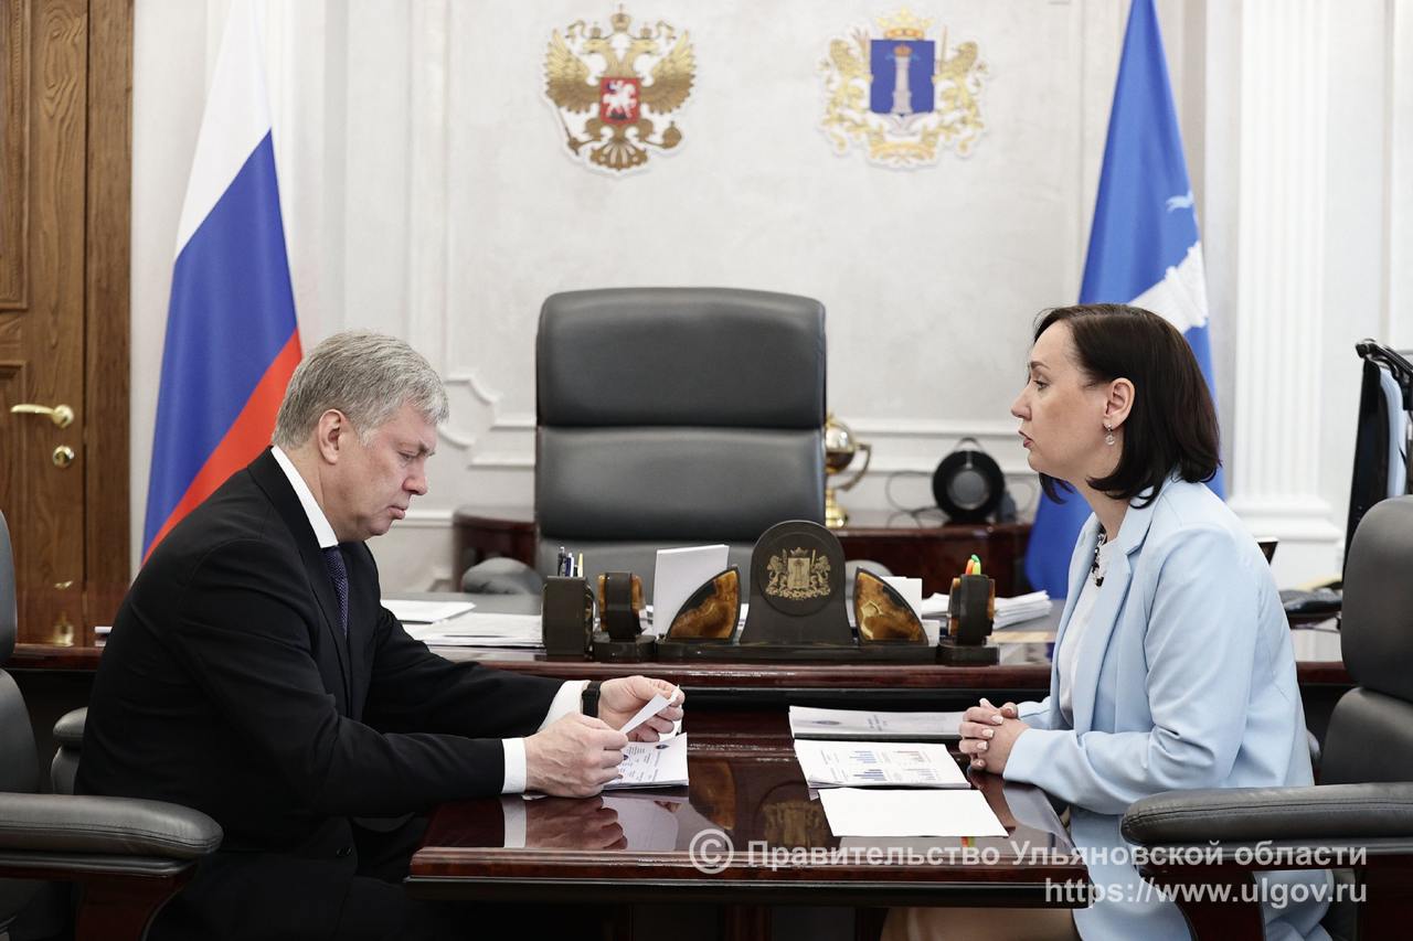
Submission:
M 403 406 L 432 424 L 447 421 L 447 390 L 437 370 L 396 336 L 343 331 L 315 346 L 294 370 L 273 441 L 284 451 L 300 448 L 319 415 L 338 408 L 366 444 Z

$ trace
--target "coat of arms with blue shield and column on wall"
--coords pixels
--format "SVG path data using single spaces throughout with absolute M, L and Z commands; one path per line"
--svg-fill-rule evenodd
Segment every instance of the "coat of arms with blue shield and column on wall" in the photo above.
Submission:
M 947 31 L 927 38 L 931 20 L 909 10 L 876 21 L 882 35 L 855 27 L 829 42 L 820 62 L 827 95 L 820 127 L 838 154 L 859 146 L 885 167 L 937 162 L 942 150 L 971 153 L 981 117 L 986 64 L 975 42 L 948 54 Z

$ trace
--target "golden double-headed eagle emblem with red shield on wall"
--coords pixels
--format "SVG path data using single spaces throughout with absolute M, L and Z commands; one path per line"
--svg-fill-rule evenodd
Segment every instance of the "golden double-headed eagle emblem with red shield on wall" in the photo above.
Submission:
M 619 11 L 609 30 L 577 20 L 552 32 L 545 54 L 545 96 L 560 114 L 565 146 L 589 167 L 622 172 L 647 162 L 653 150 L 682 140 L 677 122 L 657 124 L 692 92 L 697 61 L 685 31 L 661 20 L 633 32 Z M 656 134 L 656 137 L 654 137 Z

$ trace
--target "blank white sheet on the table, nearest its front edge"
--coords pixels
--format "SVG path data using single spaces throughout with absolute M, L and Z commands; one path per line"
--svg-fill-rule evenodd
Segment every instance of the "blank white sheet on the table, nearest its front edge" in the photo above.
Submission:
M 820 803 L 835 836 L 1005 836 L 981 791 L 832 787 Z

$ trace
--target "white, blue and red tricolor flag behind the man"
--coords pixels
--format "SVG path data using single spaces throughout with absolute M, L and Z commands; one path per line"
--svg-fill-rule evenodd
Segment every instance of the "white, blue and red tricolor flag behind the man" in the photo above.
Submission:
M 177 233 L 144 561 L 270 444 L 298 362 L 260 20 L 254 3 L 236 0 Z

